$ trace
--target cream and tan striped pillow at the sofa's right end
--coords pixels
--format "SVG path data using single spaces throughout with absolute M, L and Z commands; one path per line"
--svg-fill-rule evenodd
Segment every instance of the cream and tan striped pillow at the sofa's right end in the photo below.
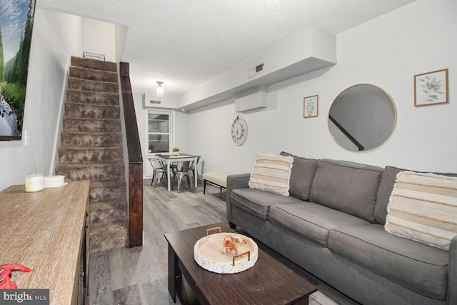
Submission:
M 457 235 L 457 178 L 401 171 L 387 212 L 389 233 L 448 250 Z

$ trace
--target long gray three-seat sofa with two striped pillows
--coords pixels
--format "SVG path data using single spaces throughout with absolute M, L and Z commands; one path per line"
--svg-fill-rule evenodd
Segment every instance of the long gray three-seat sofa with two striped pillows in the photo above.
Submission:
M 228 176 L 227 219 L 361 304 L 457 304 L 457 237 L 446 251 L 384 230 L 402 170 L 293 156 L 291 196 Z

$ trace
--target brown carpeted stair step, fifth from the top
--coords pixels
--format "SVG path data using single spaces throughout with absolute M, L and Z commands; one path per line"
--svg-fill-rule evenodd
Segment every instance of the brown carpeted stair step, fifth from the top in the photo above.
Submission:
M 120 115 L 119 105 L 65 103 L 65 116 L 74 118 L 119 119 Z

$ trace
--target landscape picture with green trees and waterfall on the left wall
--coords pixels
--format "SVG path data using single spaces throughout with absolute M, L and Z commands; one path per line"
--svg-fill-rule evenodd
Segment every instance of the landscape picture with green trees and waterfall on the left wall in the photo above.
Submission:
M 21 140 L 35 0 L 3 0 L 0 9 L 0 140 Z

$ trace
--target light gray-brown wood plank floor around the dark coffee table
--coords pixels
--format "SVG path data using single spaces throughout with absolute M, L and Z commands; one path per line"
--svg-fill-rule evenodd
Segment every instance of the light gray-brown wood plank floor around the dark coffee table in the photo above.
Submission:
M 144 180 L 143 246 L 113 249 L 89 256 L 91 305 L 174 304 L 168 291 L 168 244 L 164 234 L 216 222 L 227 223 L 225 191 L 220 192 L 219 188 L 207 186 L 204 195 L 200 184 L 196 191 L 189 191 L 186 185 L 181 185 L 178 194 L 176 186 L 174 191 L 168 191 L 164 184 L 155 189 L 150 184 L 151 179 Z M 268 253 L 281 260 L 275 253 Z M 296 269 L 290 262 L 281 261 L 318 286 L 319 292 L 312 296 L 310 304 L 356 304 L 304 271 Z M 181 304 L 178 299 L 176 304 Z

